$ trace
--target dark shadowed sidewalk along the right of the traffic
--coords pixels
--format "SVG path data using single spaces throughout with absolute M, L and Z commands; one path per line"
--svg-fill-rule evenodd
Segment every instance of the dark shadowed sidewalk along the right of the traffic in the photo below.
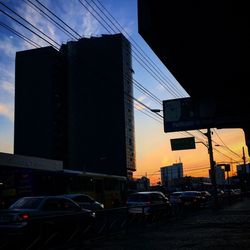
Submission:
M 91 244 L 92 245 L 92 244 Z M 95 243 L 93 250 L 250 249 L 250 198 Z

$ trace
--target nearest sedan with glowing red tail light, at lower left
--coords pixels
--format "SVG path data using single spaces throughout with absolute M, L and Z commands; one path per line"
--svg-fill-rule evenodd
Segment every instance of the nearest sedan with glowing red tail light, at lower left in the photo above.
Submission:
M 49 242 L 79 240 L 94 222 L 94 212 L 82 209 L 69 198 L 22 197 L 8 209 L 0 210 L 0 242 L 17 245 L 21 242 L 29 248 L 34 244 L 41 247 L 42 244 L 49 246 Z

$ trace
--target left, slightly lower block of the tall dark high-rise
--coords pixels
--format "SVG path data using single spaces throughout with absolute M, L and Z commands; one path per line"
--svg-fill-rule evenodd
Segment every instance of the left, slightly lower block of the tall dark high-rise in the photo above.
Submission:
M 58 98 L 66 93 L 61 58 L 52 47 L 16 53 L 15 154 L 56 160 L 65 154 L 62 130 L 66 123 L 58 109 Z

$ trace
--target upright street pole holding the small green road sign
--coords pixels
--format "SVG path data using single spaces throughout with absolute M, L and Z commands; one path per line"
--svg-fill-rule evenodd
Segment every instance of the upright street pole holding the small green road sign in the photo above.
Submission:
M 211 129 L 207 129 L 206 133 L 208 139 L 208 154 L 210 159 L 210 173 L 211 173 L 211 181 L 214 189 L 214 208 L 218 208 L 218 196 L 217 196 L 217 184 L 216 184 L 216 174 L 215 174 L 215 162 L 213 156 L 213 146 L 212 146 L 212 138 L 211 138 Z

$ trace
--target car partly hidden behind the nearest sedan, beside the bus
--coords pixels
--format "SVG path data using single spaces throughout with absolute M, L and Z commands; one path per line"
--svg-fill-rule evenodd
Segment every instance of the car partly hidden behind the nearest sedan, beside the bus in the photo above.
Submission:
M 64 194 L 63 196 L 75 201 L 84 209 L 89 209 L 92 211 L 104 209 L 104 204 L 94 200 L 91 196 L 86 194 Z

